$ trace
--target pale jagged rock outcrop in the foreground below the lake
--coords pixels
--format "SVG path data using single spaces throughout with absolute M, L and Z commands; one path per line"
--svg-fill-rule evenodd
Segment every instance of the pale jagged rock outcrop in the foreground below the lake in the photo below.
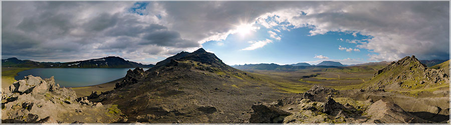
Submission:
M 119 114 L 109 114 L 108 108 L 86 99 L 77 101 L 75 92 L 55 84 L 53 76 L 29 75 L 2 88 L 3 123 L 112 122 Z

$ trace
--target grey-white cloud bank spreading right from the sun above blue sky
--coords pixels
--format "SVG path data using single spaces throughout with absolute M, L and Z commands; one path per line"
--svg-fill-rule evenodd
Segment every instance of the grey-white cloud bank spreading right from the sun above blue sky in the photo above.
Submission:
M 412 54 L 423 59 L 449 58 L 447 2 L 343 1 L 334 2 L 333 6 L 329 2 L 318 3 L 268 12 L 257 20 L 272 18 L 265 23 L 272 23 L 268 28 L 310 27 L 310 35 L 340 31 L 372 36 L 358 45 L 377 53 L 369 55 L 372 59 L 395 60 Z M 424 9 L 428 7 L 434 9 Z

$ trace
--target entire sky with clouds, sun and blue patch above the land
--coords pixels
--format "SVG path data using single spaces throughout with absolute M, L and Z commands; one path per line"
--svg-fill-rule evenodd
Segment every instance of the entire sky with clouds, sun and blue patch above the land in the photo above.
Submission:
M 449 59 L 449 1 L 2 1 L 2 58 L 144 64 Z

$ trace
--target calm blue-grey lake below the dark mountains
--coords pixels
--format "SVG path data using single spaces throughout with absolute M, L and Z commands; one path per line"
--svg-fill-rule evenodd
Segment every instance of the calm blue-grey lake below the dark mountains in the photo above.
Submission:
M 64 87 L 81 87 L 102 84 L 124 77 L 128 69 L 134 68 L 33 68 L 19 72 L 14 78 L 24 79 L 33 75 L 44 78 L 55 76 L 55 82 Z M 147 70 L 148 68 L 144 68 Z

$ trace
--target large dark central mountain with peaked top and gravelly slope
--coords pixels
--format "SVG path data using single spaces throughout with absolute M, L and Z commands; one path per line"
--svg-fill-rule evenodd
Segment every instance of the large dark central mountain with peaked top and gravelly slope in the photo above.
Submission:
M 168 57 L 146 71 L 129 70 L 113 90 L 92 93 L 88 99 L 117 104 L 126 123 L 243 123 L 254 102 L 288 94 L 277 90 L 199 48 Z

